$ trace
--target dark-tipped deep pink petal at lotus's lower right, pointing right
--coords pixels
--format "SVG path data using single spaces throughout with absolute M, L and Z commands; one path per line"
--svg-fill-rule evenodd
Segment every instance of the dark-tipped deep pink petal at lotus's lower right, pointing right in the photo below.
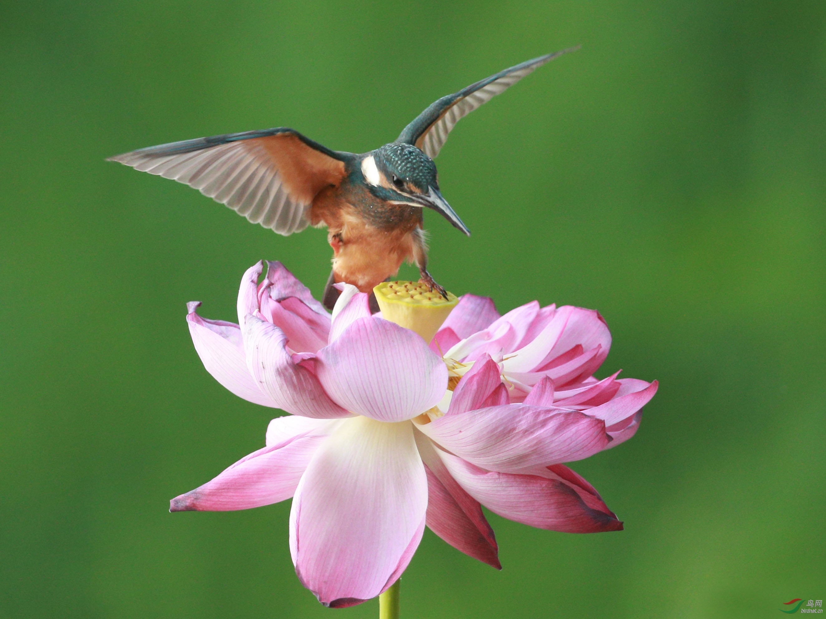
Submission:
M 613 513 L 589 507 L 563 480 L 483 470 L 439 451 L 445 466 L 474 499 L 501 517 L 550 531 L 595 533 L 623 528 Z

